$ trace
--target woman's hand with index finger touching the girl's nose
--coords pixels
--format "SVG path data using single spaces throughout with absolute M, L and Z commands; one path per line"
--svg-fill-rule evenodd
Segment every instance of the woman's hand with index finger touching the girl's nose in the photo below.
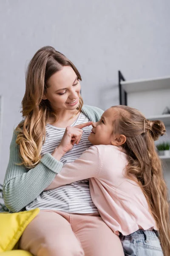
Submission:
M 92 122 L 87 122 L 84 124 L 76 125 L 74 127 L 66 127 L 61 142 L 51 155 L 57 160 L 60 160 L 66 152 L 70 151 L 74 147 L 74 144 L 79 144 L 83 133 L 82 128 L 91 124 Z

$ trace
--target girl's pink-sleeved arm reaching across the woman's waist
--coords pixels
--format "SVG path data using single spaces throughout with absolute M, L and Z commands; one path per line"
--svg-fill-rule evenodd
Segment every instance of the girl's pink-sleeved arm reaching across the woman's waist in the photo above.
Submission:
M 99 152 L 96 146 L 84 151 L 82 155 L 72 163 L 66 163 L 56 175 L 52 183 L 44 190 L 55 189 L 59 186 L 98 177 L 101 169 Z

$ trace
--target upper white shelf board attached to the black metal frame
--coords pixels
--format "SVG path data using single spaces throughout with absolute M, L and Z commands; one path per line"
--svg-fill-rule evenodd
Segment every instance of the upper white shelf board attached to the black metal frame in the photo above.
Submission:
M 127 93 L 170 89 L 170 77 L 121 81 L 121 84 L 122 89 L 125 90 Z

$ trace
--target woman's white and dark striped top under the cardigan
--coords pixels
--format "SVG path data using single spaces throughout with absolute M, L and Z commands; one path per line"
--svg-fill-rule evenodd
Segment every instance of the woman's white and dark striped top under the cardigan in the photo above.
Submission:
M 90 119 L 84 114 L 80 113 L 77 120 L 71 125 L 79 125 L 89 122 Z M 62 158 L 61 162 L 71 163 L 88 149 L 92 144 L 88 141 L 88 136 L 91 132 L 92 126 L 84 127 L 82 138 L 78 145 L 74 145 L 71 151 L 68 151 Z M 46 125 L 46 139 L 42 146 L 41 156 L 47 153 L 52 153 L 59 145 L 65 128 L 57 128 L 56 126 Z M 70 213 L 94 213 L 98 212 L 94 205 L 89 189 L 89 182 L 87 180 L 77 181 L 57 189 L 43 191 L 34 201 L 26 206 L 26 210 L 39 207 L 40 209 L 54 209 Z

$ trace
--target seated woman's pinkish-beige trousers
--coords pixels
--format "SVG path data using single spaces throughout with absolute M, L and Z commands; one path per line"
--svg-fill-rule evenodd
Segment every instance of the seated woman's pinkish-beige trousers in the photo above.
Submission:
M 124 256 L 119 236 L 98 214 L 41 210 L 26 227 L 20 249 L 34 256 Z

